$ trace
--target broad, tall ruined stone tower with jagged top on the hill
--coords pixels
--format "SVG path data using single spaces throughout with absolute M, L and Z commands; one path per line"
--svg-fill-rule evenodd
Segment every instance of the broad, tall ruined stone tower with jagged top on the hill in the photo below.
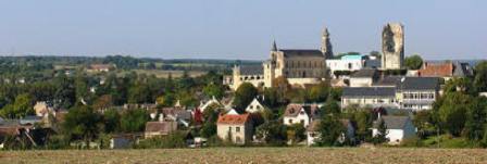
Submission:
M 404 30 L 399 23 L 389 23 L 383 29 L 383 70 L 402 68 L 404 61 Z

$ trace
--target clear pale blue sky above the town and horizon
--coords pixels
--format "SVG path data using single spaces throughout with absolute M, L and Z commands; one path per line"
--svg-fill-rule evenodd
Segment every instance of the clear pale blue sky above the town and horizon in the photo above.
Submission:
M 388 22 L 407 55 L 487 59 L 486 0 L 0 0 L 0 55 L 265 60 L 274 39 L 319 49 L 324 27 L 367 53 Z

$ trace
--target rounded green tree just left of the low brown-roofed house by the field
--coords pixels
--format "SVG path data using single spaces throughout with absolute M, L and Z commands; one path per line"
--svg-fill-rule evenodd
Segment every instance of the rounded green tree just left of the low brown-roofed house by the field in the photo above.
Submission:
M 149 119 L 146 110 L 127 110 L 121 116 L 121 130 L 124 133 L 142 131 Z

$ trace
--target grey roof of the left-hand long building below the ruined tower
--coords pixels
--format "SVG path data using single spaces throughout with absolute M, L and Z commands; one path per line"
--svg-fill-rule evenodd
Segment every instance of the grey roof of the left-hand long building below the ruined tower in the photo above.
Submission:
M 342 97 L 395 97 L 394 87 L 346 87 Z

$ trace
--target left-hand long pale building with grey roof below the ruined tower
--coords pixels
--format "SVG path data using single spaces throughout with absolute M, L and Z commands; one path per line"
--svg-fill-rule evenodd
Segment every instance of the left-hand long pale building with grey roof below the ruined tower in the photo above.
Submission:
M 359 106 L 397 106 L 395 87 L 347 87 L 341 96 L 341 108 L 351 104 Z

